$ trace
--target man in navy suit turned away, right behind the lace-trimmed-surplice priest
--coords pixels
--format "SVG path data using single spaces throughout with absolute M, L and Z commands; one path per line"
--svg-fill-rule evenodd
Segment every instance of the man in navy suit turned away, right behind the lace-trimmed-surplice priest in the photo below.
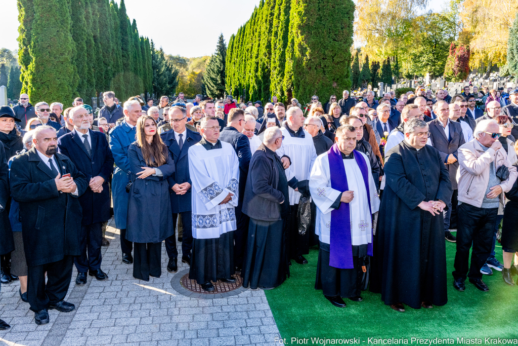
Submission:
M 220 141 L 230 143 L 239 158 L 239 196 L 236 207 L 236 231 L 234 232 L 234 263 L 236 270 L 241 270 L 243 252 L 247 242 L 248 216 L 241 213 L 243 206 L 244 187 L 247 184 L 248 167 L 252 153 L 250 141 L 241 132 L 244 127 L 244 111 L 239 108 L 232 108 L 228 112 L 228 125 L 220 133 Z

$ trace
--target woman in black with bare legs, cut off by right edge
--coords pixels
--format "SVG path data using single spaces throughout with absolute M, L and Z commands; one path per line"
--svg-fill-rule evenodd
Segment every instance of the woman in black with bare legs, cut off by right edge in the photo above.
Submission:
M 516 142 L 518 143 L 518 142 Z M 518 145 L 514 145 L 514 150 L 518 150 Z M 518 162 L 514 163 L 518 168 Z M 503 209 L 502 239 L 500 241 L 503 250 L 503 281 L 514 286 L 513 276 L 518 275 L 518 180 L 513 184 L 509 192 L 506 192 L 509 199 L 505 209 Z M 512 264 L 514 254 L 514 265 Z

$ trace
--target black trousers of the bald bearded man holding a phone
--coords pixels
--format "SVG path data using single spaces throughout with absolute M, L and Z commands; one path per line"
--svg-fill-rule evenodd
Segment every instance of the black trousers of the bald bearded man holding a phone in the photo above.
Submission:
M 27 268 L 27 299 L 32 311 L 47 309 L 49 304 L 65 299 L 72 278 L 73 263 L 73 256 L 65 256 L 57 262 Z

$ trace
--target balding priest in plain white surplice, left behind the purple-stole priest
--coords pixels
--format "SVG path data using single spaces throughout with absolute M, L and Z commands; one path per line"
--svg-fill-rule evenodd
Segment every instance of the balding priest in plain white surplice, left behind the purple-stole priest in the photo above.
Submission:
M 302 195 L 309 197 L 309 174 L 316 159 L 313 137 L 304 130 L 304 113 L 299 107 L 291 107 L 286 112 L 286 121 L 281 127 L 282 146 L 276 151 L 283 162 L 289 157 L 291 165 L 285 170 L 286 176 L 294 176 L 288 185 L 290 186 L 291 215 L 287 222 L 287 244 L 290 258 L 298 264 L 307 264 L 303 255 L 309 253 L 309 231 L 300 234 L 298 227 L 298 204 Z M 286 168 L 286 165 L 285 167 Z

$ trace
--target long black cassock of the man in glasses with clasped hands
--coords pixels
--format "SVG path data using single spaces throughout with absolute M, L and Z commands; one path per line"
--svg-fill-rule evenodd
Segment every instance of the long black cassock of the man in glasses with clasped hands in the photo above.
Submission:
M 386 305 L 444 305 L 448 296 L 442 212 L 433 216 L 418 204 L 450 203 L 449 172 L 439 151 L 429 145 L 416 150 L 403 141 L 386 157 L 370 290 L 381 293 Z

